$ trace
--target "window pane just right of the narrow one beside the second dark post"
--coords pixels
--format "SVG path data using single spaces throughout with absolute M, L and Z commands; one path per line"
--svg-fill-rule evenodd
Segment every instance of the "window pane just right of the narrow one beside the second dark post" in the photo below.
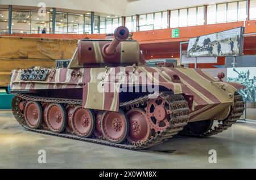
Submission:
M 68 33 L 84 33 L 84 15 L 68 14 Z

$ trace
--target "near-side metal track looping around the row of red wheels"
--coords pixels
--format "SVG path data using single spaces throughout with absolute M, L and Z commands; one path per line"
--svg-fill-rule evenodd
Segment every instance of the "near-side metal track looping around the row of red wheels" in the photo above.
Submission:
M 97 143 L 97 144 L 104 144 L 104 145 L 110 145 L 113 147 L 118 148 L 125 148 L 125 149 L 146 149 L 153 147 L 154 145 L 160 144 L 164 142 L 166 139 L 172 138 L 172 136 L 178 134 L 181 130 L 183 130 L 183 127 L 187 125 L 189 120 L 189 108 L 188 108 L 188 102 L 185 101 L 184 97 L 182 95 L 172 95 L 171 92 L 161 92 L 157 94 L 158 96 L 164 98 L 172 111 L 171 113 L 171 119 L 170 119 L 170 125 L 166 128 L 166 130 L 162 132 L 155 133 L 153 136 L 151 136 L 150 139 L 147 139 L 144 142 L 133 142 L 129 143 L 127 140 L 124 143 L 121 144 L 114 144 L 110 143 L 104 138 L 96 138 L 94 135 L 92 135 L 90 138 L 80 138 L 79 136 L 73 135 L 67 131 L 64 131 L 61 134 L 56 134 L 54 132 L 45 130 L 43 126 L 40 126 L 39 129 L 32 129 L 27 126 L 26 121 L 24 119 L 24 115 L 19 110 L 19 102 L 22 100 L 28 100 L 28 101 L 37 101 L 41 104 L 44 102 L 53 102 L 53 103 L 61 103 L 66 105 L 82 105 L 81 100 L 71 100 L 71 99 L 63 99 L 63 98 L 48 98 L 48 97 L 38 97 L 38 96 L 32 96 L 27 94 L 17 94 L 13 98 L 12 102 L 12 110 L 14 117 L 16 118 L 16 121 L 26 128 L 29 131 L 33 132 L 39 132 L 42 134 L 47 135 L 55 135 L 60 136 L 63 138 L 69 138 L 69 139 L 75 139 L 75 140 L 81 140 L 84 142 L 91 142 L 91 143 Z M 139 97 L 135 100 L 129 101 L 129 102 L 123 102 L 120 104 L 120 107 L 128 110 L 133 108 L 138 108 L 140 106 L 147 105 L 147 101 L 149 100 L 151 95 Z

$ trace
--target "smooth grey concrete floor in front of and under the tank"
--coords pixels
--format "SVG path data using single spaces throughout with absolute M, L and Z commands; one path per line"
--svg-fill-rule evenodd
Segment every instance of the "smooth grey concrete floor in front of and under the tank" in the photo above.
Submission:
M 24 130 L 0 112 L 0 168 L 256 168 L 256 126 L 238 123 L 207 139 L 184 136 L 146 151 L 129 151 Z M 38 151 L 46 151 L 46 164 Z M 217 163 L 208 162 L 210 149 Z M 167 153 L 156 152 L 167 151 Z

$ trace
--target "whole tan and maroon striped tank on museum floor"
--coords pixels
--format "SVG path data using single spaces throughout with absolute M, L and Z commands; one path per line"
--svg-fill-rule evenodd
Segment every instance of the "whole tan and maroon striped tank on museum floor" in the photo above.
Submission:
M 241 117 L 243 85 L 222 82 L 223 73 L 147 67 L 128 37 L 119 27 L 113 40 L 80 40 L 68 68 L 13 70 L 16 120 L 34 132 L 145 149 L 178 133 L 214 135 Z

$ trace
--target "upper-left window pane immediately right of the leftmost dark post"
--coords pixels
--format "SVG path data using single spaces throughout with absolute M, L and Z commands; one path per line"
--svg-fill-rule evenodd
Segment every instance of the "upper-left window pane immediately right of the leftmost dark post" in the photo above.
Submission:
M 30 33 L 30 11 L 13 10 L 13 33 Z

